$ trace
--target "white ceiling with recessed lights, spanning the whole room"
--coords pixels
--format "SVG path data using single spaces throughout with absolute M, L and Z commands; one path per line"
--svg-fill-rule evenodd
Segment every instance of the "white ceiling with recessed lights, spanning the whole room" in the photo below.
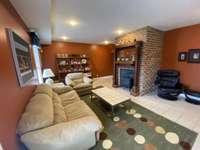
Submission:
M 50 1 L 11 0 L 28 27 L 38 30 L 43 43 L 64 35 L 71 42 L 101 43 L 114 40 L 118 28 L 129 32 L 149 25 L 166 31 L 200 23 L 200 0 Z M 70 27 L 65 23 L 70 19 L 80 24 Z

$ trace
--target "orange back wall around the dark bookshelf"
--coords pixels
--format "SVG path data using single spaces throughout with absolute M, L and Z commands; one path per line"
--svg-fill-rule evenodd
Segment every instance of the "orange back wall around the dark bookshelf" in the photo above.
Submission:
M 92 45 L 82 43 L 53 42 L 51 45 L 42 46 L 43 68 L 52 68 L 56 72 L 55 57 L 57 53 L 87 54 L 90 57 L 92 73 L 94 76 L 112 74 L 112 50 L 109 45 Z

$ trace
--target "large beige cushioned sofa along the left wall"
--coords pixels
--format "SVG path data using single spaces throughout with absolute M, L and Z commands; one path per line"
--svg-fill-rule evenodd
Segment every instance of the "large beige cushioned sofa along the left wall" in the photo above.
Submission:
M 18 123 L 29 150 L 87 150 L 103 126 L 70 87 L 39 85 Z

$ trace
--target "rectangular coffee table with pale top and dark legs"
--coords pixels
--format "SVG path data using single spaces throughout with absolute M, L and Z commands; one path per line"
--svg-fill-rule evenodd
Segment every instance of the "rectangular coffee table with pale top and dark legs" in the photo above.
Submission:
M 95 95 L 100 98 L 100 100 L 106 102 L 111 107 L 112 114 L 114 114 L 114 109 L 117 105 L 126 103 L 131 100 L 129 96 L 121 94 L 116 90 L 102 87 L 92 90 L 92 95 Z M 92 98 L 93 96 L 91 96 Z

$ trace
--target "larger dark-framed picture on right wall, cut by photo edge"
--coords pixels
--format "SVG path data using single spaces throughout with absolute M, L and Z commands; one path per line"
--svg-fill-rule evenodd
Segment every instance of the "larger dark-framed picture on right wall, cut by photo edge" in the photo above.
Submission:
M 200 63 L 200 49 L 190 49 L 188 54 L 189 63 Z

